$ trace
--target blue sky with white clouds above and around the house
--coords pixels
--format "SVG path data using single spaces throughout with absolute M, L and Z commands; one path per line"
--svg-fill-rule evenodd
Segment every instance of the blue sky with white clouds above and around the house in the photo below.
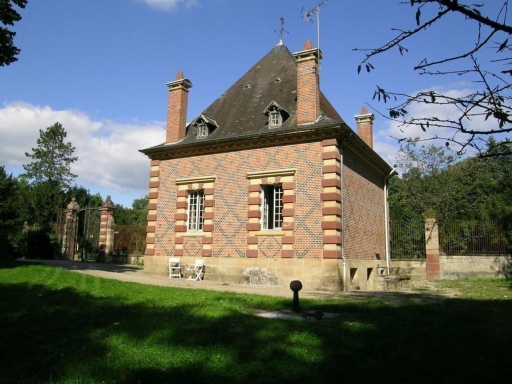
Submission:
M 77 148 L 77 183 L 130 205 L 148 182 L 148 160 L 136 149 L 165 138 L 165 83 L 178 70 L 193 82 L 193 119 L 279 41 L 281 16 L 290 51 L 305 39 L 316 45 L 316 24 L 304 22 L 301 9 L 317 2 L 29 0 L 14 27 L 19 60 L 0 67 L 0 164 L 18 174 L 38 129 L 60 119 Z M 383 54 L 371 61 L 375 71 L 357 75 L 362 53 L 353 48 L 375 47 L 394 36 L 392 27 L 414 25 L 415 8 L 398 3 L 330 0 L 321 10 L 321 88 L 353 128 L 365 102 L 383 110 L 371 100 L 376 84 L 404 92 L 471 87 L 412 71 L 425 50 L 441 57 L 473 44 L 475 34 L 465 34 L 456 16 L 408 42 L 408 55 Z M 375 149 L 391 161 L 393 129 L 377 116 Z

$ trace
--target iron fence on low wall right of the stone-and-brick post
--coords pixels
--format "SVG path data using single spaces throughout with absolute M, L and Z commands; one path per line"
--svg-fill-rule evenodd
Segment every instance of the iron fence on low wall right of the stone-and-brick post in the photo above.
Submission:
M 512 254 L 512 226 L 486 221 L 439 225 L 439 248 L 447 255 Z

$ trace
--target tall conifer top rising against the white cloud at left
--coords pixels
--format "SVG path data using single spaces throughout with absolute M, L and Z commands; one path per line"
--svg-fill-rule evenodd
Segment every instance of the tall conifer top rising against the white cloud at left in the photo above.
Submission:
M 35 184 L 48 182 L 59 188 L 69 188 L 77 176 L 71 172 L 71 164 L 78 158 L 73 156 L 75 147 L 64 141 L 66 136 L 66 130 L 59 122 L 44 131 L 39 130 L 37 147 L 32 148 L 31 154 L 25 153 L 33 160 L 23 165 L 28 179 Z

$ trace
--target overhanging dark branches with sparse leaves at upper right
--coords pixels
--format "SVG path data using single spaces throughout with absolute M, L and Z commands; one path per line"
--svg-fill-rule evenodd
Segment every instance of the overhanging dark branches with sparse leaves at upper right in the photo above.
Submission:
M 407 54 L 409 49 L 405 46 L 406 41 L 413 45 L 414 37 L 421 33 L 428 34 L 440 20 L 449 21 L 450 17 L 459 17 L 465 20 L 463 33 L 474 33 L 474 44 L 464 48 L 457 38 L 446 36 L 443 44 L 454 42 L 455 53 L 449 57 L 436 57 L 438 51 L 424 52 L 420 47 L 422 59 L 416 63 L 414 71 L 426 76 L 447 76 L 450 77 L 449 81 L 465 81 L 472 86 L 459 95 L 436 89 L 408 94 L 390 92 L 377 86 L 373 98 L 385 103 L 394 100 L 396 105 L 388 109 L 389 119 L 400 126 L 420 127 L 428 134 L 421 140 L 442 139 L 446 145 L 456 144 L 459 154 L 464 153 L 466 148 L 473 148 L 481 157 L 512 154 L 509 138 L 506 139 L 508 145 L 497 146 L 492 153 L 487 151 L 487 147 L 492 145 L 489 135 L 512 131 L 512 83 L 509 80 L 512 76 L 512 41 L 509 41 L 512 26 L 507 24 L 508 1 L 489 2 L 487 7 L 454 0 L 410 0 L 401 4 L 407 3 L 415 10 L 411 13 L 414 25 L 410 28 L 393 28 L 395 37 L 377 48 L 355 49 L 366 51 L 357 72 L 361 72 L 362 68 L 366 68 L 367 72 L 374 70 L 369 60 L 389 50 L 397 49 L 402 56 Z M 414 106 L 429 107 L 426 111 L 451 107 L 456 112 L 449 117 L 441 117 L 436 112 L 432 112 L 432 115 L 425 112 L 425 115 L 409 116 Z M 472 124 L 473 121 L 481 123 Z M 488 125 L 485 126 L 485 123 Z M 397 139 L 406 142 L 419 140 L 407 136 Z

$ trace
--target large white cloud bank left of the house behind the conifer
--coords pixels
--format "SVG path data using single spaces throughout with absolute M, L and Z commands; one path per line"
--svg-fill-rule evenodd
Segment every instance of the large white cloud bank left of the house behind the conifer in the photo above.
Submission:
M 149 160 L 141 148 L 165 139 L 163 122 L 118 123 L 95 120 L 76 110 L 53 110 L 26 102 L 12 102 L 0 109 L 0 165 L 20 167 L 30 159 L 39 129 L 60 122 L 75 147 L 78 161 L 72 172 L 76 182 L 91 189 L 113 189 L 144 196 L 147 193 Z

